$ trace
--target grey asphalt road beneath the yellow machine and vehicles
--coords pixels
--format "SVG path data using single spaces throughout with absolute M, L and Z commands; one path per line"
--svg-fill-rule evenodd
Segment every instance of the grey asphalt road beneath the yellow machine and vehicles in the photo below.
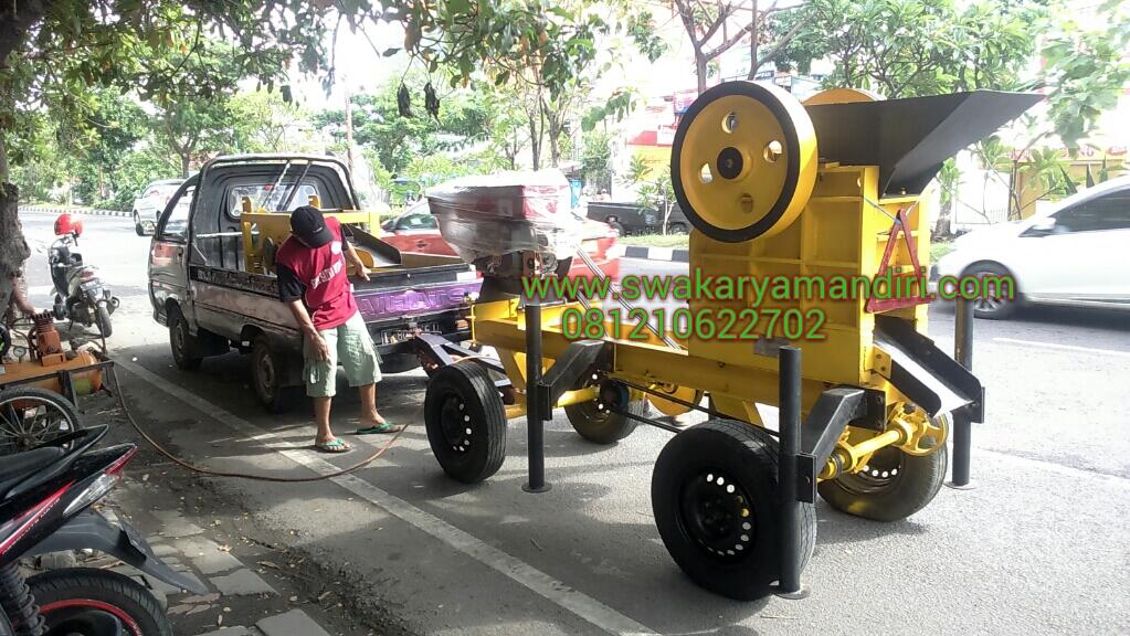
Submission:
M 24 217 L 32 242 L 49 218 Z M 195 461 L 277 474 L 325 473 L 370 454 L 303 450 L 308 411 L 268 416 L 247 385 L 247 359 L 175 369 L 148 317 L 146 239 L 124 219 L 87 219 L 89 261 L 123 297 L 112 346 L 132 408 Z M 32 285 L 45 284 L 42 255 Z M 666 265 L 677 268 L 678 265 Z M 683 265 L 685 267 L 685 265 Z M 625 263 L 625 272 L 654 268 Z M 43 303 L 40 294 L 36 300 Z M 119 317 L 121 316 L 121 317 Z M 931 311 L 936 338 L 953 314 Z M 800 602 L 736 603 L 690 584 L 654 529 L 652 462 L 669 435 L 640 429 L 611 447 L 584 443 L 564 417 L 547 432 L 553 490 L 522 493 L 524 427 L 503 469 L 467 487 L 442 477 L 420 426 L 425 378 L 381 385 L 383 411 L 412 425 L 384 459 L 353 476 L 279 487 L 219 482 L 218 496 L 289 533 L 372 603 L 427 634 L 1130 633 L 1130 325 L 1122 316 L 1026 312 L 979 321 L 976 367 L 990 387 L 975 430 L 977 488 L 942 489 L 912 519 L 878 524 L 819 504 L 816 554 Z M 338 428 L 357 415 L 342 393 Z

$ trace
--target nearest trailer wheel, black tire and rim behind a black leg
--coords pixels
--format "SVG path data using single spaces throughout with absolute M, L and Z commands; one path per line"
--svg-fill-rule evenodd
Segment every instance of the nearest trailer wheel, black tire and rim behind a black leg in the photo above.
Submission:
M 655 525 L 675 563 L 723 596 L 764 596 L 780 575 L 777 444 L 768 433 L 712 419 L 663 446 L 651 478 Z M 800 526 L 805 563 L 816 543 L 815 506 Z

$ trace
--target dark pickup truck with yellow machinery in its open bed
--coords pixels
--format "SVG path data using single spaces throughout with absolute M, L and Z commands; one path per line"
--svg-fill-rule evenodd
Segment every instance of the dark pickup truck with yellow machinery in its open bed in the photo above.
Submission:
M 208 162 L 169 199 L 149 251 L 154 319 L 168 328 L 173 359 L 194 369 L 208 356 L 251 354 L 252 386 L 271 411 L 301 394 L 302 337 L 278 299 L 273 251 L 289 215 L 314 204 L 341 221 L 368 267 L 353 278 L 357 306 L 384 373 L 418 366 L 420 333 L 470 337 L 467 314 L 481 282 L 454 256 L 401 253 L 368 234 L 376 215 L 359 212 L 346 166 L 305 155 L 244 155 Z

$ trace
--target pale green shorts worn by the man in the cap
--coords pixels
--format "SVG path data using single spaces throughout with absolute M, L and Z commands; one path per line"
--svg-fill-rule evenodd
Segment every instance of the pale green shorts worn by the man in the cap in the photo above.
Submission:
M 360 312 L 345 324 L 319 331 L 330 349 L 330 359 L 319 360 L 310 340 L 303 338 L 303 377 L 306 378 L 306 394 L 311 398 L 332 398 L 337 393 L 338 361 L 346 369 L 349 386 L 364 386 L 381 381 L 380 357 L 373 347 L 373 339 L 365 329 Z

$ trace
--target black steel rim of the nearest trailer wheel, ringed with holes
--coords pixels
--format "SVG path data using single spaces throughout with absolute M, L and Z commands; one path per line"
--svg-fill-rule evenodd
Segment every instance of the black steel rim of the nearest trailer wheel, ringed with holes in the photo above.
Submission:
M 753 499 L 728 472 L 703 469 L 685 479 L 678 513 L 684 532 L 711 557 L 734 563 L 753 551 Z

